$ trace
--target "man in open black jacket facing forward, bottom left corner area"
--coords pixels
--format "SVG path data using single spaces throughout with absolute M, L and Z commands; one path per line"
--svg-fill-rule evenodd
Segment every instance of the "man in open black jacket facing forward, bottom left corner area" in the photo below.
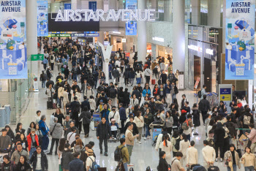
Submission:
M 48 170 L 48 159 L 45 155 L 45 153 L 42 151 L 41 146 L 37 146 L 37 151 L 34 151 L 33 155 L 31 156 L 31 159 L 29 162 L 33 166 L 33 170 L 36 170 L 37 166 L 37 156 L 40 155 L 38 159 L 41 159 L 41 167 L 42 171 L 47 171 Z

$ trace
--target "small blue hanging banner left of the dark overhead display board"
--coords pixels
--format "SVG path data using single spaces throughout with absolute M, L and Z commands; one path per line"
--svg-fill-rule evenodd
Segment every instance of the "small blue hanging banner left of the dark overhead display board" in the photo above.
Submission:
M 37 1 L 37 37 L 48 37 L 48 1 Z

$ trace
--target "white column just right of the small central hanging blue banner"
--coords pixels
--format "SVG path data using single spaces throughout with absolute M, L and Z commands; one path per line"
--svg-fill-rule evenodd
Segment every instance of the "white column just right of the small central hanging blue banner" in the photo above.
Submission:
M 146 0 L 138 1 L 138 9 L 146 9 Z M 142 16 L 144 18 L 144 15 Z M 138 21 L 138 61 L 145 61 L 147 54 L 147 33 L 146 21 Z

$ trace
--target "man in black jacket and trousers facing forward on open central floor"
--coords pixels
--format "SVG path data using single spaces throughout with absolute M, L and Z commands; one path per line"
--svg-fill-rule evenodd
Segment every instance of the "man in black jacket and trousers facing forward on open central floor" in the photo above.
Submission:
M 104 156 L 108 156 L 108 139 L 111 138 L 110 126 L 106 123 L 106 119 L 108 118 L 102 118 L 102 122 L 97 126 L 97 139 L 99 140 L 100 153 L 103 151 L 102 142 L 104 141 Z

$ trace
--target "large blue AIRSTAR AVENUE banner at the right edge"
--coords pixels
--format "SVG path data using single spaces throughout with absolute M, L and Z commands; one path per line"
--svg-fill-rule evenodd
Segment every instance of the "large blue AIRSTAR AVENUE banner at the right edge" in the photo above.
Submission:
M 255 0 L 226 1 L 225 80 L 253 80 Z

